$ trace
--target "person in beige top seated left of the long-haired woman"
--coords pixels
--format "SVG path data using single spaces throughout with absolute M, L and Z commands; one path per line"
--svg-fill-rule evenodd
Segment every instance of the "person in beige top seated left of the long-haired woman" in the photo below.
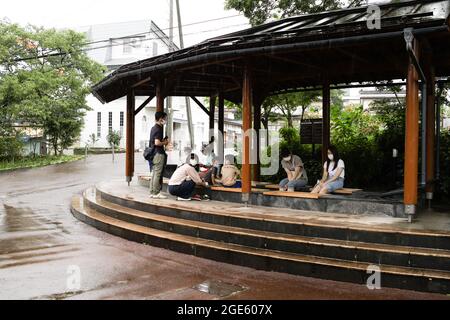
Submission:
M 281 151 L 281 166 L 286 171 L 287 178 L 281 180 L 280 191 L 294 192 L 308 184 L 308 175 L 302 159 L 293 155 L 288 149 Z

